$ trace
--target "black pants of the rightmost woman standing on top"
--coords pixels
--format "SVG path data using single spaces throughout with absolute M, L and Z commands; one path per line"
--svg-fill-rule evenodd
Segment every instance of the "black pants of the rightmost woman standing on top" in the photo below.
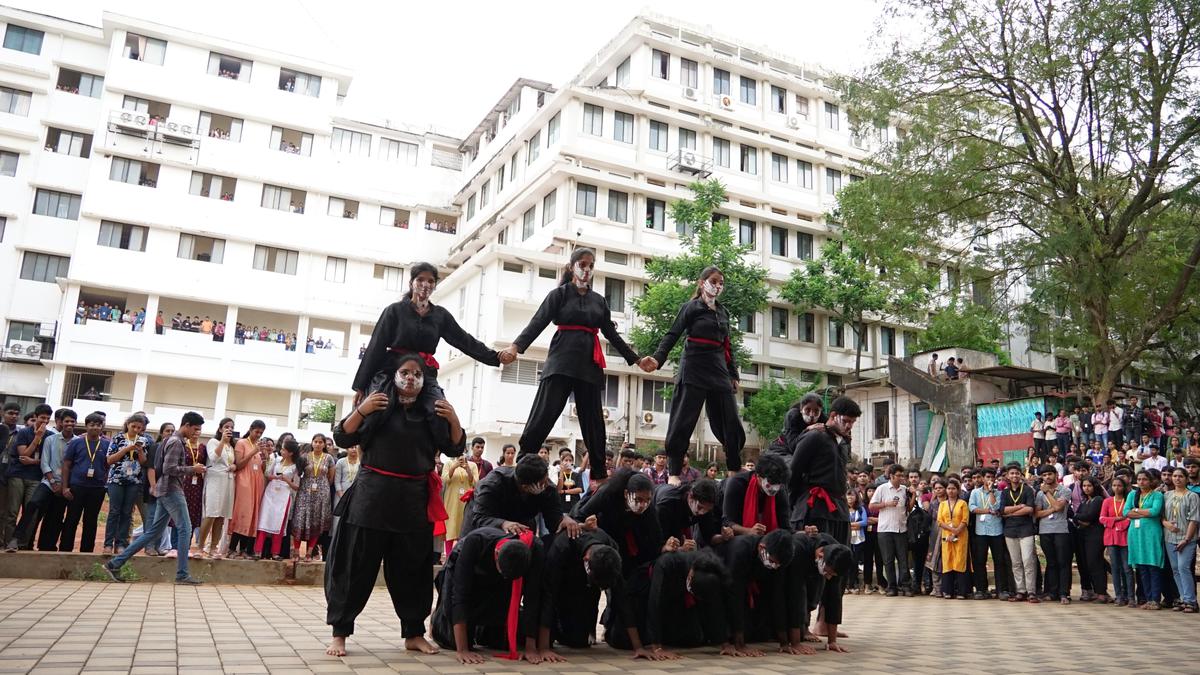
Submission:
M 671 422 L 667 424 L 665 442 L 667 473 L 679 476 L 683 472 L 683 458 L 688 454 L 688 443 L 700 422 L 701 407 L 708 414 L 709 429 L 725 448 L 725 466 L 731 473 L 742 471 L 742 447 L 746 444 L 746 432 L 738 418 L 733 389 L 720 392 L 679 382 L 671 398 Z

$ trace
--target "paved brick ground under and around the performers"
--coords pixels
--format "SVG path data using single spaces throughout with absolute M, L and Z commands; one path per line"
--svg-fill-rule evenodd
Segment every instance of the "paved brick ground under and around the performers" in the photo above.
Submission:
M 756 659 L 694 650 L 667 663 L 630 661 L 606 647 L 564 652 L 569 663 L 488 661 L 461 667 L 450 655 L 404 652 L 400 625 L 379 589 L 349 643 L 324 655 L 324 593 L 316 587 L 103 584 L 0 579 L 0 671 L 14 673 L 1045 673 L 1168 671 L 1112 640 L 1154 635 L 1157 653 L 1195 656 L 1200 615 L 1112 605 L 940 601 L 848 596 L 850 655 Z M 1104 635 L 1109 635 L 1105 638 Z M 1099 637 L 1099 641 L 1097 641 Z M 176 647 L 178 639 L 178 647 Z M 1063 649 L 1080 645 L 1082 649 Z M 980 649 L 983 647 L 983 649 Z M 1194 664 L 1193 664 L 1194 667 Z M 1187 669 L 1187 668 L 1186 668 Z

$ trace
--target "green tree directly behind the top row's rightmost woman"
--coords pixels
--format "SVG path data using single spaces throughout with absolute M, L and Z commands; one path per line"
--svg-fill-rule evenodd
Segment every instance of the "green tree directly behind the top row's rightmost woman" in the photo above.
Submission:
M 630 339 L 638 353 L 654 353 L 674 323 L 679 307 L 695 292 L 700 273 L 708 265 L 716 265 L 725 274 L 725 292 L 720 303 L 730 312 L 730 342 L 738 363 L 748 363 L 738 317 L 766 306 L 767 270 L 745 262 L 743 256 L 751 249 L 734 241 L 728 219 L 714 221 L 713 213 L 725 202 L 725 187 L 720 181 L 696 181 L 689 189 L 695 196 L 692 199 L 671 204 L 671 217 L 683 228 L 679 235 L 683 251 L 677 256 L 646 262 L 650 282 L 642 295 L 634 298 L 638 321 L 630 330 Z M 680 340 L 672 350 L 670 360 L 678 362 L 682 351 Z

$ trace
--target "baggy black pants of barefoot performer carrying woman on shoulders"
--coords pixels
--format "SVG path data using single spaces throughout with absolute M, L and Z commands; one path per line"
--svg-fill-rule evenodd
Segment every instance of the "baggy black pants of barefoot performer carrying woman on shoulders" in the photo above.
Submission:
M 325 623 L 334 627 L 335 638 L 354 634 L 354 620 L 371 598 L 380 563 L 401 637 L 425 634 L 433 604 L 433 526 L 388 532 L 342 520 L 325 562 Z

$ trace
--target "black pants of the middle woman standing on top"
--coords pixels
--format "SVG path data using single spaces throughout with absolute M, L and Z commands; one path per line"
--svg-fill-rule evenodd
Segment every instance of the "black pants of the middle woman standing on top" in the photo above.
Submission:
M 520 454 L 538 454 L 550 430 L 558 422 L 558 416 L 563 414 L 568 399 L 575 394 L 575 411 L 580 418 L 583 444 L 588 448 L 590 477 L 593 479 L 607 477 L 605 449 L 608 440 L 604 428 L 601 393 L 599 386 L 566 375 L 542 377 L 538 384 L 538 395 L 533 399 L 533 407 L 529 408 L 529 418 L 526 419 L 526 430 L 517 441 L 521 447 Z

